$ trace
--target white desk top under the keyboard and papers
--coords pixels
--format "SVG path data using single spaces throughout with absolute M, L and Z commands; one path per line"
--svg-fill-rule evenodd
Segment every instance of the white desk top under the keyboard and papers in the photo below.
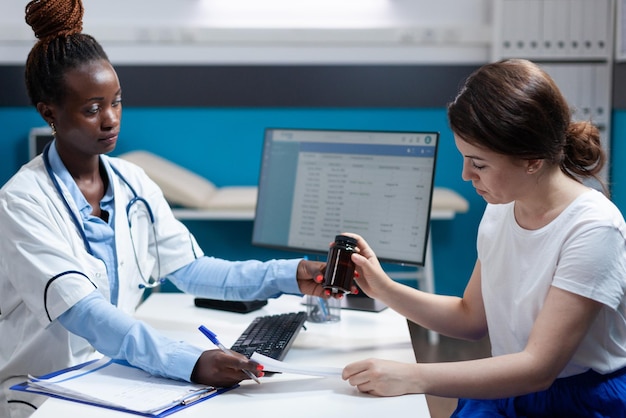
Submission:
M 236 314 L 196 308 L 190 295 L 153 293 L 136 316 L 172 337 L 214 348 L 198 331 L 199 325 L 206 325 L 224 345 L 230 346 L 254 317 L 303 310 L 300 301 L 300 297 L 284 295 L 270 300 L 258 311 Z M 300 332 L 285 361 L 336 367 L 369 357 L 415 361 L 406 320 L 391 309 L 379 313 L 343 310 L 341 315 L 337 323 L 307 322 L 307 329 Z M 261 381 L 260 385 L 242 382 L 239 388 L 172 417 L 347 418 L 389 414 L 430 417 L 423 395 L 391 398 L 364 395 L 336 377 L 277 374 Z M 133 415 L 51 398 L 33 418 L 70 416 L 125 418 Z

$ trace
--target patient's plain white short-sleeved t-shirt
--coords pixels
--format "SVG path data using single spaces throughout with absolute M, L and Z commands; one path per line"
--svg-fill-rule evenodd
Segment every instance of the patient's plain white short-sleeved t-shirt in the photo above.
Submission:
M 537 230 L 515 221 L 514 203 L 487 205 L 478 229 L 482 295 L 494 356 L 520 352 L 550 286 L 604 306 L 559 377 L 626 367 L 626 224 L 596 190 Z

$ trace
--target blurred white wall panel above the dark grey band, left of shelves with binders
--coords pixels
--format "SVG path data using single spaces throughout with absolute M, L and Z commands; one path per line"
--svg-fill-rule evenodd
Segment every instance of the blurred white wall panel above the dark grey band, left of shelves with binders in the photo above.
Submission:
M 492 0 L 83 0 L 115 63 L 480 63 Z M 33 42 L 26 1 L 0 2 L 0 63 Z M 261 7 L 262 4 L 262 7 Z

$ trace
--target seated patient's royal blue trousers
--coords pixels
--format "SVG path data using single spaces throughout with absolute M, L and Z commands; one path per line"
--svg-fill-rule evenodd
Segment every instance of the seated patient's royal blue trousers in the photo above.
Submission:
M 626 368 L 608 375 L 590 370 L 564 377 L 547 390 L 523 396 L 459 399 L 451 417 L 626 417 Z

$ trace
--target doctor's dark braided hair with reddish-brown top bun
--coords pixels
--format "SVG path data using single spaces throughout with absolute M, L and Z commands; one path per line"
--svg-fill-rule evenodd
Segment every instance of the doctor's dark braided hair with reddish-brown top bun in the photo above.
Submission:
M 26 60 L 26 90 L 31 103 L 56 103 L 64 99 L 64 74 L 83 64 L 106 60 L 102 46 L 82 33 L 80 0 L 33 0 L 26 5 L 26 23 L 37 43 Z

